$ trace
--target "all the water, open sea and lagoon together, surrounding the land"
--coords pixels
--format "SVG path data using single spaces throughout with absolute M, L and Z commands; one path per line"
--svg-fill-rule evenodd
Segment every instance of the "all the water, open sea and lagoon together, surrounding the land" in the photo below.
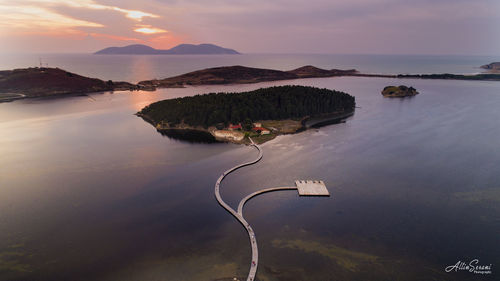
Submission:
M 2 55 L 0 69 L 40 60 L 138 82 L 227 65 L 473 74 L 500 57 L 32 54 Z M 420 94 L 380 94 L 401 84 Z M 275 85 L 344 91 L 357 108 L 344 123 L 263 144 L 259 163 L 222 183 L 233 207 L 297 179 L 323 180 L 331 194 L 279 191 L 246 204 L 258 280 L 499 280 L 500 82 L 367 77 L 0 103 L 0 280 L 245 280 L 248 236 L 214 184 L 256 150 L 171 139 L 134 114 L 163 99 Z M 447 270 L 460 262 L 491 270 Z

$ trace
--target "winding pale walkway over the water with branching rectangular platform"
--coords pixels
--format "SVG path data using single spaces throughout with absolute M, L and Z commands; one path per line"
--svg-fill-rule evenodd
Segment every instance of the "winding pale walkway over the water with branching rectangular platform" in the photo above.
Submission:
M 274 188 L 266 188 L 262 189 L 260 191 L 256 191 L 254 193 L 251 193 L 247 195 L 245 198 L 243 198 L 240 203 L 238 204 L 238 211 L 235 211 L 231 206 L 229 206 L 224 200 L 222 200 L 222 197 L 220 196 L 220 185 L 224 178 L 229 175 L 230 173 L 238 170 L 239 168 L 243 168 L 245 166 L 253 165 L 257 162 L 259 162 L 262 159 L 262 149 L 260 148 L 259 145 L 253 142 L 251 138 L 249 138 L 251 143 L 251 146 L 255 147 L 259 151 L 259 155 L 257 156 L 257 159 L 254 161 L 250 161 L 247 163 L 243 163 L 240 165 L 237 165 L 227 171 L 225 171 L 219 179 L 217 179 L 217 182 L 215 183 L 215 198 L 217 198 L 217 202 L 226 209 L 231 215 L 233 215 L 240 223 L 243 225 L 243 227 L 246 229 L 248 233 L 248 238 L 250 239 L 250 245 L 252 247 L 252 262 L 250 263 L 250 271 L 248 272 L 248 277 L 247 281 L 254 281 L 255 280 L 255 275 L 257 273 L 257 266 L 259 264 L 259 249 L 257 247 L 257 239 L 255 238 L 255 232 L 253 231 L 252 227 L 250 224 L 245 220 L 243 217 L 243 207 L 245 206 L 245 203 L 250 200 L 251 198 L 262 194 L 262 193 L 267 193 L 267 192 L 272 192 L 272 191 L 279 191 L 279 190 L 298 190 L 299 195 L 301 196 L 329 196 L 330 194 L 328 193 L 328 190 L 326 189 L 325 183 L 323 181 L 304 181 L 304 180 L 297 180 L 295 181 L 294 187 L 274 187 Z

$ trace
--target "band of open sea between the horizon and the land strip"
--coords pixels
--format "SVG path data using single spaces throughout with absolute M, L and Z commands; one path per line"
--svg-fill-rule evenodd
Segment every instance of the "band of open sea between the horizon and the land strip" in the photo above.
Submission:
M 481 73 L 479 67 L 500 56 L 429 56 L 429 55 L 92 55 L 92 54 L 0 54 L 0 70 L 39 65 L 96 77 L 103 80 L 139 82 L 166 78 L 199 69 L 244 65 L 291 70 L 304 65 L 325 69 L 357 69 L 363 73 Z

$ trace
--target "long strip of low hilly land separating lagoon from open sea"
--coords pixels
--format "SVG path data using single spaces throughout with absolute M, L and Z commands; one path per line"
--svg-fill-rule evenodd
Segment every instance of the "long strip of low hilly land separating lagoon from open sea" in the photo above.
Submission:
M 70 85 L 73 89 L 58 89 L 56 86 L 43 85 L 46 89 L 38 94 L 29 93 L 27 90 L 17 89 L 16 87 L 9 87 L 8 84 L 2 85 L 8 78 L 8 74 L 0 76 L 5 81 L 0 79 L 0 103 L 10 102 L 25 98 L 43 98 L 43 97 L 66 97 L 75 95 L 86 95 L 99 92 L 115 92 L 115 91 L 156 91 L 160 88 L 186 88 L 196 86 L 209 86 L 209 85 L 241 85 L 241 84 L 255 84 L 261 82 L 275 82 L 275 81 L 293 81 L 297 79 L 309 78 L 335 78 L 335 77 L 366 77 L 366 78 L 390 78 L 390 79 L 422 79 L 422 80 L 463 80 L 463 81 L 500 81 L 500 73 L 489 73 L 488 71 L 480 74 L 368 74 L 359 73 L 356 70 L 325 70 L 315 68 L 313 66 L 304 66 L 295 70 L 281 71 L 273 69 L 257 69 L 250 67 L 239 67 L 239 71 L 243 74 L 248 74 L 249 77 L 243 79 L 231 72 L 234 66 L 224 66 L 219 68 L 209 68 L 197 70 L 194 72 L 185 73 L 179 76 L 169 77 L 165 79 L 145 80 L 136 84 L 128 82 L 104 82 L 96 78 L 88 78 L 77 74 L 69 73 L 64 70 L 56 69 L 64 73 L 68 73 L 70 77 L 80 77 L 80 79 L 92 80 L 94 83 L 111 83 L 106 87 L 101 87 L 99 90 L 78 88 L 75 85 Z M 49 68 L 46 68 L 49 69 Z M 43 70 L 43 69 L 42 69 Z M 54 70 L 54 69 L 50 69 Z M 33 69 L 16 69 L 15 71 L 33 71 Z M 0 71 L 9 72 L 9 71 Z M 14 73 L 14 71 L 10 71 Z M 205 79 L 204 75 L 210 76 Z M 271 74 L 269 74 L 271 73 Z M 242 74 L 242 75 L 243 75 Z M 7 76 L 5 76 L 7 75 Z M 36 73 L 35 73 L 36 75 Z M 243 75 L 245 76 L 245 75 Z M 242 77 L 243 77 L 242 76 Z M 66 76 L 63 76 L 60 81 L 66 81 Z M 238 78 L 239 77 L 239 78 Z M 102 85 L 101 85 L 102 86 Z M 3 88 L 2 88 L 3 87 Z M 40 86 L 37 86 L 40 87 Z M 88 88 L 88 87 L 87 87 Z M 3 91 L 3 92 L 2 92 Z M 4 96 L 4 97 L 2 97 Z

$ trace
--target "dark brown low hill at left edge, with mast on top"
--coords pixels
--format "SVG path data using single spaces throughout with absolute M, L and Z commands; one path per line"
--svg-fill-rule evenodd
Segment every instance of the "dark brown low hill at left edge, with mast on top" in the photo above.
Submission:
M 112 90 L 136 89 L 127 82 L 103 81 L 74 74 L 59 68 L 23 68 L 0 71 L 1 93 L 22 97 L 82 94 Z

